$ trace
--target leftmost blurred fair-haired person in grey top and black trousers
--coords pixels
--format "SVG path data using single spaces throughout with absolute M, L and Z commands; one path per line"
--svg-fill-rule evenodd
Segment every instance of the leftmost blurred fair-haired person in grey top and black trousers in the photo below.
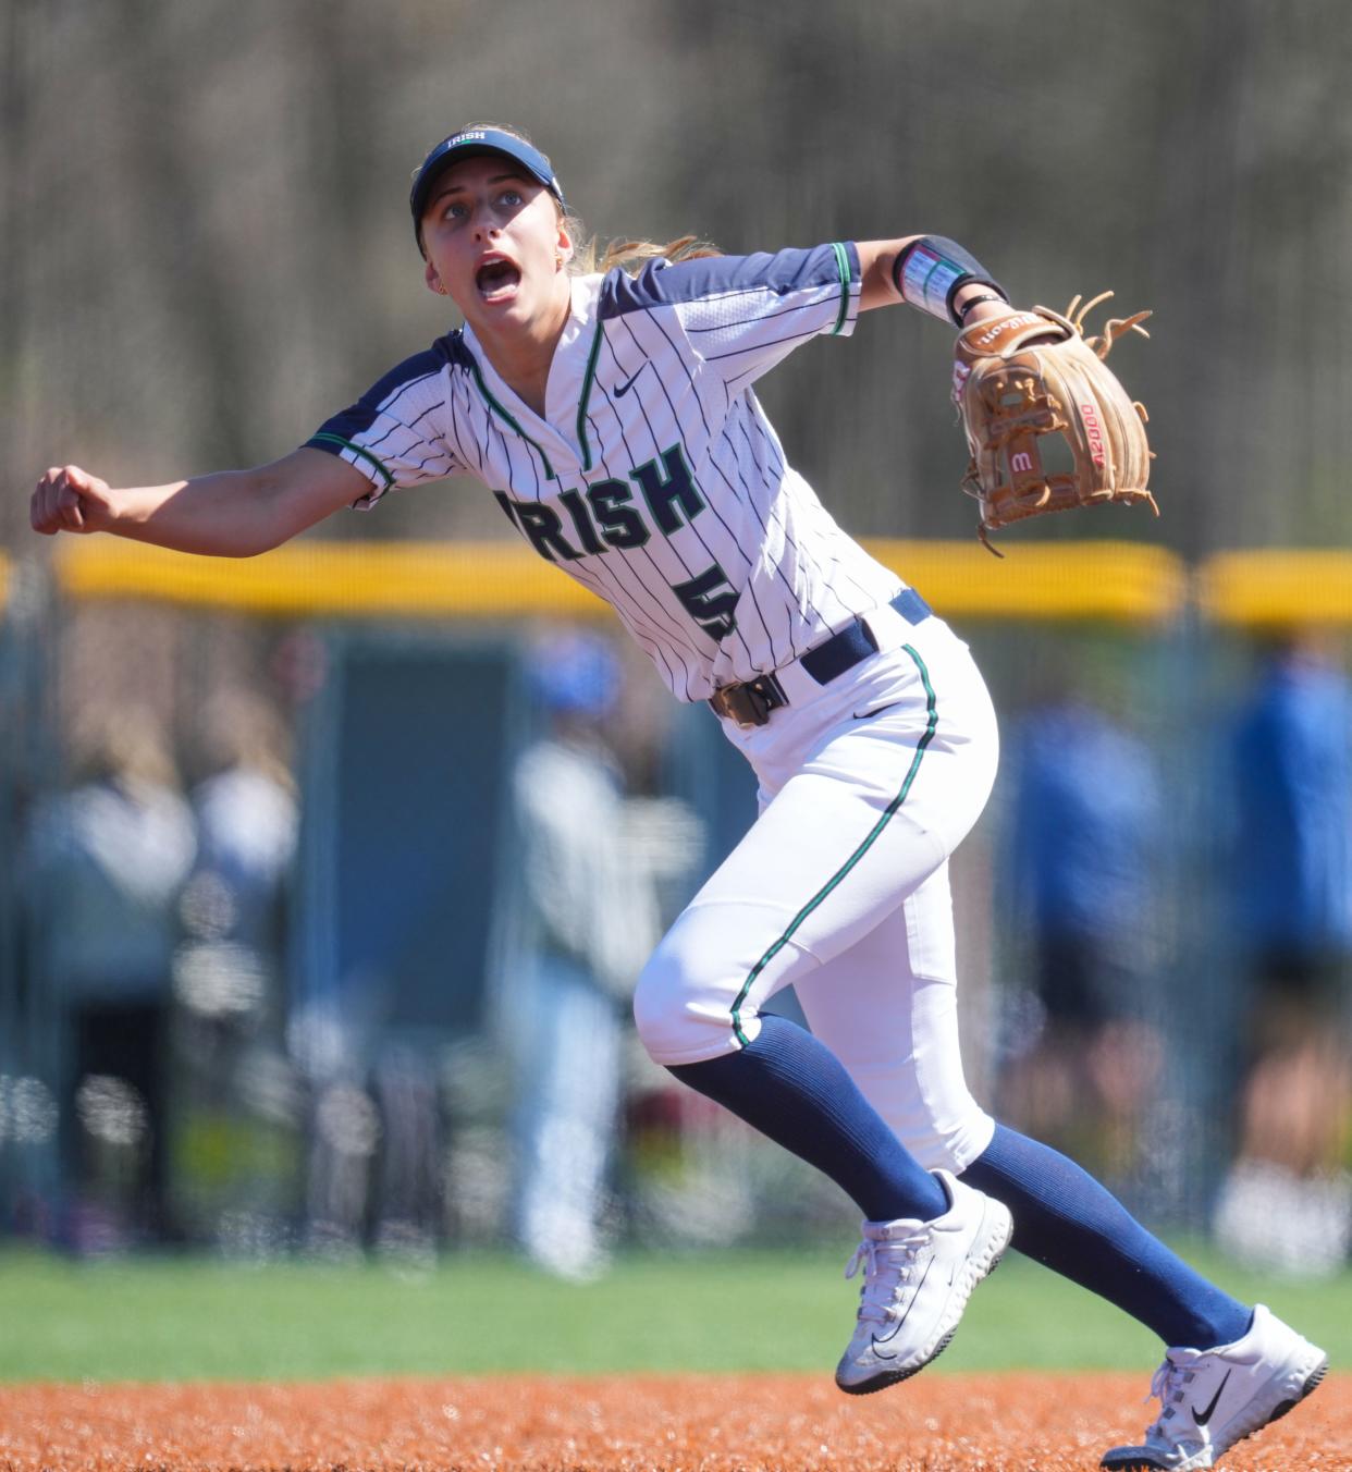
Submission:
M 166 1052 L 193 813 L 153 717 L 87 712 L 74 785 L 34 810 L 24 863 L 34 961 L 59 998 L 62 1228 L 77 1250 L 171 1235 Z

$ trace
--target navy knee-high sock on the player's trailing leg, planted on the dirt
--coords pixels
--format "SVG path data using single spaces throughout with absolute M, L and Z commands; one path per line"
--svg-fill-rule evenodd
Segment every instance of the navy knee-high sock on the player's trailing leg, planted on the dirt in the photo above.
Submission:
M 1014 1213 L 1014 1247 L 1115 1303 L 1165 1344 L 1233 1344 L 1252 1312 L 1152 1236 L 1087 1170 L 1003 1125 L 962 1179 Z

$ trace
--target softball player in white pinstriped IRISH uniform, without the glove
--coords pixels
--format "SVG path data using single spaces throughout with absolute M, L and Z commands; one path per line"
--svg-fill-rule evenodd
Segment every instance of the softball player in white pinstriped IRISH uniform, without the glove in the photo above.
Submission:
M 463 328 L 272 465 L 129 490 L 53 468 L 34 527 L 244 556 L 422 481 L 488 486 L 759 777 L 759 820 L 658 946 L 634 1013 L 658 1063 L 864 1213 L 837 1384 L 927 1365 L 1012 1232 L 1170 1345 L 1159 1419 L 1103 1465 L 1211 1466 L 1308 1394 L 1324 1356 L 968 1092 L 947 858 L 995 779 L 990 699 L 962 640 L 789 465 L 753 387 L 861 311 L 977 322 L 1009 311 L 1003 293 L 934 237 L 750 256 L 631 243 L 593 269 L 549 159 L 490 124 L 433 149 L 410 206 L 427 284 Z M 761 1011 L 790 983 L 811 1033 Z

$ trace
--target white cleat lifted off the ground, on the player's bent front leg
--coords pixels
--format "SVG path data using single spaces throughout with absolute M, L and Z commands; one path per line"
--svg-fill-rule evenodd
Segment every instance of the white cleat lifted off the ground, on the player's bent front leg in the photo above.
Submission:
M 846 1278 L 864 1267 L 859 1322 L 836 1384 L 867 1395 L 922 1370 L 958 1329 L 972 1288 L 1009 1245 L 1009 1209 L 946 1170 L 949 1210 L 933 1222 L 865 1222 Z

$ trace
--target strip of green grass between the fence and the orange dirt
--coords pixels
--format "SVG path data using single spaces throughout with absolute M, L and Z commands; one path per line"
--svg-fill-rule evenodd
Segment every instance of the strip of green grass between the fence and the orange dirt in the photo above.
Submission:
M 849 1247 L 844 1248 L 844 1253 Z M 556 1282 L 508 1257 L 381 1266 L 206 1260 L 72 1263 L 0 1253 L 0 1379 L 321 1379 L 496 1372 L 818 1370 L 844 1345 L 844 1253 L 631 1256 L 600 1282 Z M 1317 1284 L 1192 1262 L 1352 1365 L 1352 1273 Z M 1024 1259 L 977 1292 L 937 1372 L 1134 1369 L 1153 1337 Z

